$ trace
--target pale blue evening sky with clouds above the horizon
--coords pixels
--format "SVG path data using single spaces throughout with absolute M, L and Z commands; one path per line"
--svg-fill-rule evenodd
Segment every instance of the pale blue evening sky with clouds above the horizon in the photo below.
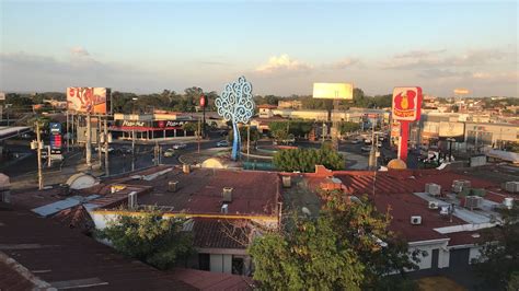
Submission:
M 0 91 L 519 96 L 518 1 L 5 1 Z

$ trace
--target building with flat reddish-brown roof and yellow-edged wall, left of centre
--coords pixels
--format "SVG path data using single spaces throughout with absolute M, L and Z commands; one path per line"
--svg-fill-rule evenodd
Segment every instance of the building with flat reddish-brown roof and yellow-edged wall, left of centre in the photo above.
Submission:
M 153 171 L 105 183 L 102 198 L 89 201 L 95 205 L 89 211 L 95 228 L 104 229 L 115 216 L 154 206 L 165 218 L 188 219 L 185 229 L 193 231 L 198 252 L 188 267 L 250 275 L 246 246 L 261 230 L 279 225 L 277 173 L 210 168 L 183 172 L 173 167 Z M 117 190 L 107 194 L 114 187 Z M 131 193 L 137 206 L 120 210 L 120 206 L 128 206 Z

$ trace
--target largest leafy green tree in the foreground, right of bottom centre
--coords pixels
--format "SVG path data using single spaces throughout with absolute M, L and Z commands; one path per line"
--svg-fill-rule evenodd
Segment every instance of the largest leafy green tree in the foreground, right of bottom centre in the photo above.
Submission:
M 323 193 L 318 218 L 291 216 L 281 231 L 249 247 L 254 279 L 267 290 L 415 290 L 404 269 L 416 268 L 417 253 L 388 231 L 390 218 L 362 199 Z M 402 276 L 387 277 L 390 272 Z M 394 289 L 392 289 L 394 288 Z

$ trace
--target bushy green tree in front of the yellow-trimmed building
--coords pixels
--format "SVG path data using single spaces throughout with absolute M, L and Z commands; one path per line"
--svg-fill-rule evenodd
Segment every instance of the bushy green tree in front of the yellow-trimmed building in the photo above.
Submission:
M 185 220 L 164 219 L 152 210 L 139 216 L 118 216 L 97 232 L 119 253 L 142 260 L 159 269 L 171 269 L 178 258 L 193 252 L 193 237 L 183 232 Z

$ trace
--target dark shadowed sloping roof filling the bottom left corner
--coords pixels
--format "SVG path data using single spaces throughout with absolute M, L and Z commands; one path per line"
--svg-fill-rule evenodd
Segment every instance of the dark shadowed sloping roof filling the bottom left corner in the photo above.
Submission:
M 55 220 L 12 210 L 0 211 L 0 252 L 50 284 L 93 283 L 92 290 L 196 290 Z M 0 279 L 0 289 L 12 287 L 10 278 Z

